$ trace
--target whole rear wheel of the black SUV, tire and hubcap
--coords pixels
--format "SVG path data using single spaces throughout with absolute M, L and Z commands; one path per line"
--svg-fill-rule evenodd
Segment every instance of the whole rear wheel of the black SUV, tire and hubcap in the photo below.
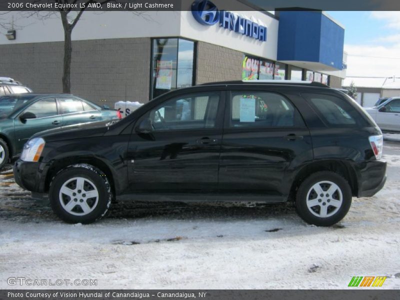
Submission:
M 346 215 L 350 205 L 350 185 L 335 172 L 313 173 L 297 189 L 297 213 L 309 224 L 333 225 Z

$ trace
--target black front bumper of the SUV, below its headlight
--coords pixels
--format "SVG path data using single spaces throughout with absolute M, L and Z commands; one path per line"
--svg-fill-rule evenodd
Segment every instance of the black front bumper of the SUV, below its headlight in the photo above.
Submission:
M 42 162 L 22 161 L 18 159 L 13 166 L 15 182 L 23 189 L 44 193 L 47 165 Z

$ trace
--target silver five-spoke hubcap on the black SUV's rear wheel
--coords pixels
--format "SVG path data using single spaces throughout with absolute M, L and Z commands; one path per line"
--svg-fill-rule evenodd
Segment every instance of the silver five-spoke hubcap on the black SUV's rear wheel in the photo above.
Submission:
M 319 181 L 312 185 L 307 193 L 308 210 L 318 217 L 335 214 L 343 201 L 343 194 L 337 184 L 331 181 Z

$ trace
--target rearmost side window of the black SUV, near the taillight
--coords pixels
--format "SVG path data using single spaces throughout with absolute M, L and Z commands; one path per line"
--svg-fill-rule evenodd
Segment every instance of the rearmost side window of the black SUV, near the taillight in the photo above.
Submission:
M 302 96 L 306 98 L 326 125 L 350 127 L 366 125 L 364 118 L 346 99 L 316 93 L 304 93 Z

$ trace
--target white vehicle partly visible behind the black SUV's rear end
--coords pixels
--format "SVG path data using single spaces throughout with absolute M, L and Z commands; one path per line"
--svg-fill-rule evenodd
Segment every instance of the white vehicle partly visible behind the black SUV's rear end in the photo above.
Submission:
M 400 131 L 400 97 L 388 98 L 379 106 L 365 108 L 381 130 Z

